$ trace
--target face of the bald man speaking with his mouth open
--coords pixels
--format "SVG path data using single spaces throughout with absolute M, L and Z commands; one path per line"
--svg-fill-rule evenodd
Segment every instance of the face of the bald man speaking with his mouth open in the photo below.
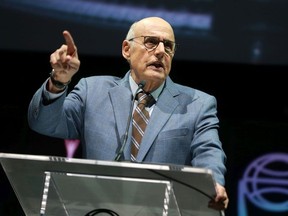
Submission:
M 129 40 L 131 74 L 136 83 L 146 81 L 145 91 L 158 88 L 169 75 L 174 56 L 174 34 L 162 21 L 138 24 L 135 37 Z

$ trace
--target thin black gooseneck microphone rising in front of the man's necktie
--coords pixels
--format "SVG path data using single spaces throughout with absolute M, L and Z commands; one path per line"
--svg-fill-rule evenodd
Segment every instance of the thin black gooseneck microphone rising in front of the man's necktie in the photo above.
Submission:
M 140 83 L 138 84 L 138 88 L 137 88 L 135 94 L 133 95 L 132 103 L 131 103 L 131 106 L 130 106 L 130 114 L 129 114 L 129 117 L 128 117 L 125 134 L 124 134 L 124 137 L 123 137 L 123 142 L 122 142 L 120 150 L 118 151 L 118 153 L 116 154 L 116 157 L 114 158 L 114 161 L 119 161 L 121 156 L 122 156 L 122 154 L 123 154 L 124 148 L 125 148 L 126 143 L 127 143 L 128 132 L 129 132 L 129 128 L 130 128 L 131 118 L 132 118 L 132 115 L 133 115 L 133 107 L 134 107 L 136 95 L 137 95 L 137 93 L 138 93 L 138 91 L 140 89 L 144 88 L 145 84 L 146 84 L 145 80 L 140 81 Z

